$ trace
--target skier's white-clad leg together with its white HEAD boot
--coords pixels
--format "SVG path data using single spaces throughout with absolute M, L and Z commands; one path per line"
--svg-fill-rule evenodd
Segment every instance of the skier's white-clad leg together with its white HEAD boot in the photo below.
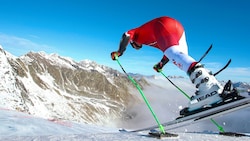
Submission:
M 180 39 L 179 45 L 168 48 L 164 53 L 176 66 L 187 72 L 190 80 L 198 89 L 189 103 L 189 111 L 222 100 L 219 94 L 222 93 L 223 87 L 203 65 L 188 55 L 185 35 Z

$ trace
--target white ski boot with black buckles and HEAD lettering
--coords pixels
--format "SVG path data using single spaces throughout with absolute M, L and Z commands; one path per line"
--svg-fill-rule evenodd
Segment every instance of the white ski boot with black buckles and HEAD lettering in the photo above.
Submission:
M 200 63 L 196 64 L 190 70 L 190 79 L 195 84 L 196 95 L 191 97 L 188 105 L 188 111 L 198 110 L 204 107 L 210 107 L 212 104 L 222 101 L 220 94 L 223 92 L 223 87 Z

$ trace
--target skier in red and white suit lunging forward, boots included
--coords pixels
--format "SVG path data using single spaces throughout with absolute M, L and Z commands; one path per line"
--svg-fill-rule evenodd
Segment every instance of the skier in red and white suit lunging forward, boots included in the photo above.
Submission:
M 189 111 L 222 100 L 219 96 L 223 91 L 220 83 L 203 65 L 188 55 L 185 31 L 177 20 L 163 16 L 128 30 L 122 35 L 118 51 L 111 53 L 111 58 L 116 60 L 116 56 L 122 56 L 128 43 L 137 50 L 142 48 L 142 45 L 160 49 L 163 57 L 153 67 L 157 72 L 160 72 L 163 66 L 171 61 L 188 74 L 197 88 L 196 94 L 189 102 Z

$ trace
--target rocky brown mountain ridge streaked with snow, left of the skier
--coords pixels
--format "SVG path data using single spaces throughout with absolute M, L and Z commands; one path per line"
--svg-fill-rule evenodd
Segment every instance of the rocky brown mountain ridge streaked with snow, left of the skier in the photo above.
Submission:
M 15 57 L 1 47 L 0 61 L 0 107 L 104 125 L 140 101 L 124 74 L 90 60 L 45 52 Z

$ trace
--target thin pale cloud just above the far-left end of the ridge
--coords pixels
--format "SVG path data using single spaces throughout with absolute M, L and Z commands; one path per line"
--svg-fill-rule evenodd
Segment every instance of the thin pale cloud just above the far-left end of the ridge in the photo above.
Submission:
M 35 35 L 33 35 L 35 36 Z M 36 36 L 37 37 L 37 36 Z M 0 33 L 0 44 L 13 55 L 20 56 L 29 51 L 53 51 L 54 48 L 46 44 L 38 44 L 29 39 Z

